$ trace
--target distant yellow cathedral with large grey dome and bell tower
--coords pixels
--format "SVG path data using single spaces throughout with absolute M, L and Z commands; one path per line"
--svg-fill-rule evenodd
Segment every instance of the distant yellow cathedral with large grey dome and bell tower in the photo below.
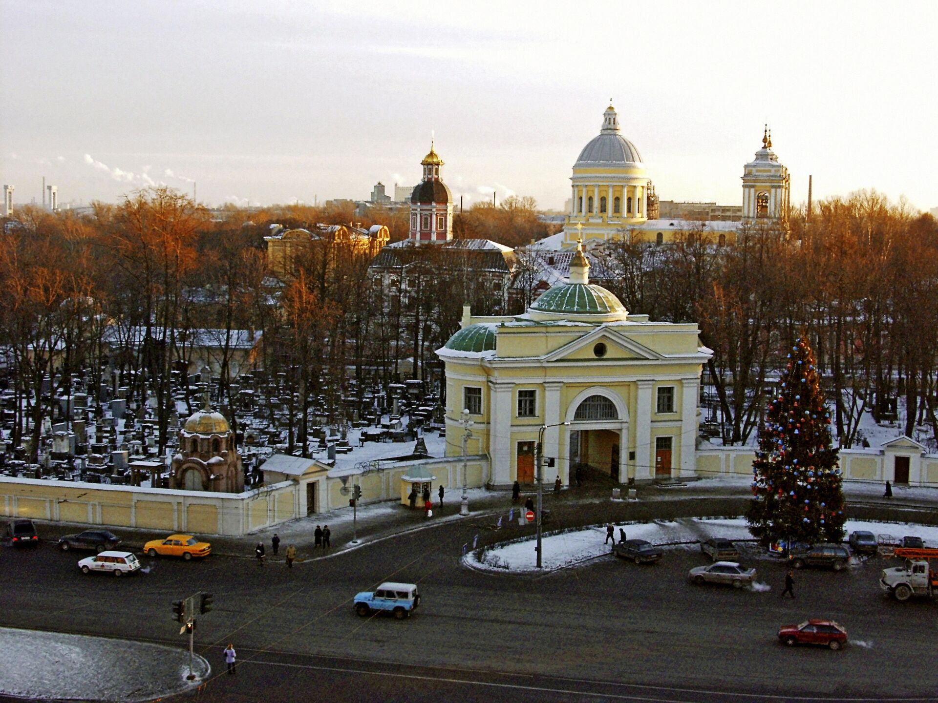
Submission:
M 614 240 L 668 244 L 688 235 L 712 244 L 733 244 L 741 227 L 757 220 L 785 220 L 790 205 L 788 169 L 763 146 L 743 170 L 743 221 L 684 220 L 658 217 L 658 196 L 638 148 L 623 136 L 610 105 L 599 134 L 582 148 L 573 164 L 570 208 L 564 231 L 538 242 L 540 248 L 591 248 Z

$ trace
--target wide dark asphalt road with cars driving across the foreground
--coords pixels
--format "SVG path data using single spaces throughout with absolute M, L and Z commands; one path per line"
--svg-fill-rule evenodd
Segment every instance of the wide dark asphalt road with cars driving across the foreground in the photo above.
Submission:
M 84 576 L 82 554 L 48 543 L 4 548 L 0 624 L 182 648 L 171 602 L 212 591 L 215 608 L 196 629 L 215 672 L 198 693 L 206 701 L 938 700 L 936 604 L 885 598 L 882 559 L 795 572 L 796 600 L 783 601 L 785 564 L 761 554 L 741 561 L 767 592 L 689 585 L 688 570 L 706 561 L 683 547 L 657 564 L 609 556 L 542 576 L 492 575 L 460 564 L 476 532 L 440 525 L 292 571 L 144 557 L 149 572 L 129 578 Z M 356 591 L 388 579 L 420 585 L 416 614 L 356 617 Z M 840 621 L 852 644 L 779 644 L 780 624 L 809 617 Z M 235 676 L 224 673 L 228 642 Z

